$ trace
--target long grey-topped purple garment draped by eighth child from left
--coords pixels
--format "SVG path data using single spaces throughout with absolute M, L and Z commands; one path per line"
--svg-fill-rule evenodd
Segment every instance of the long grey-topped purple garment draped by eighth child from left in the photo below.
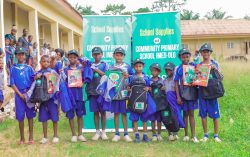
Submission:
M 177 103 L 174 80 L 166 78 L 166 80 L 164 81 L 164 87 L 167 94 L 167 101 L 177 116 L 179 127 L 185 128 L 185 123 L 181 115 L 182 109 L 181 106 Z

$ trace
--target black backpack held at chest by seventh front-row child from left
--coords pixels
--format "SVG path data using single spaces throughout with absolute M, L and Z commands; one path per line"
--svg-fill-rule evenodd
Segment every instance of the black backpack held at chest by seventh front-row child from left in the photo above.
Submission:
M 156 104 L 156 111 L 166 109 L 168 104 L 166 100 L 166 93 L 165 91 L 161 90 L 162 87 L 163 85 L 160 83 L 154 82 L 151 84 L 152 92 L 150 92 L 150 95 Z

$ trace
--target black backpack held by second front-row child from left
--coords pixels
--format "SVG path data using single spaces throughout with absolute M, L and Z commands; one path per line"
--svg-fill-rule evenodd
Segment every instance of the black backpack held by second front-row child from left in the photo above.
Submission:
M 31 103 L 42 103 L 47 102 L 50 99 L 50 94 L 48 93 L 48 84 L 46 76 L 42 75 L 36 80 L 36 85 L 34 91 L 30 97 Z

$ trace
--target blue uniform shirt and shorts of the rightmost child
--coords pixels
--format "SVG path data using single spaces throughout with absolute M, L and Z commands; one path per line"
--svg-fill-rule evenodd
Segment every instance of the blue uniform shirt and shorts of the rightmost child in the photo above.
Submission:
M 202 62 L 200 64 L 202 64 Z M 216 61 L 211 60 L 211 65 L 215 65 L 217 69 L 220 70 L 219 64 Z M 213 76 L 210 74 L 210 77 Z M 206 118 L 207 115 L 212 119 L 220 118 L 218 99 L 216 98 L 216 99 L 206 100 L 203 99 L 199 94 L 199 116 L 201 118 Z

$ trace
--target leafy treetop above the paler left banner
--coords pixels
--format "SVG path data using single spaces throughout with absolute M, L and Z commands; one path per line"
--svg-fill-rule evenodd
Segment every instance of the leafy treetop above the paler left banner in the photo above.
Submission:
M 108 4 L 105 10 L 101 10 L 101 12 L 105 14 L 121 15 L 125 8 L 124 4 Z

